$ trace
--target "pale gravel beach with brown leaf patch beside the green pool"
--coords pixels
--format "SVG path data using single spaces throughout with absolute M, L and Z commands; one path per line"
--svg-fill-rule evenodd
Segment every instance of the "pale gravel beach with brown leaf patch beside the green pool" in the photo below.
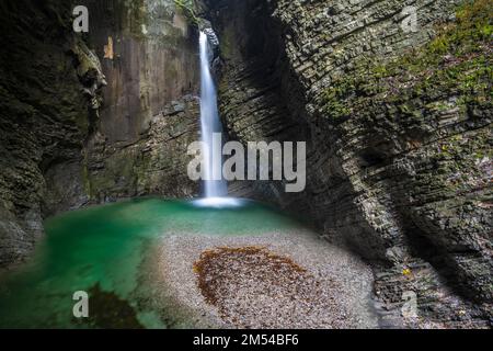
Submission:
M 309 230 L 167 236 L 150 263 L 154 303 L 185 327 L 378 327 L 369 268 Z

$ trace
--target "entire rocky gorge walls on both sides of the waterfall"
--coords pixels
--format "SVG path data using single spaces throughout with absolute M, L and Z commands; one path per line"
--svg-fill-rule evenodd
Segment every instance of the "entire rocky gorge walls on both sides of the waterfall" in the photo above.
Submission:
M 303 193 L 231 191 L 296 212 L 370 261 L 383 325 L 401 324 L 416 296 L 409 326 L 484 326 L 493 11 L 462 2 L 410 2 L 417 29 L 404 31 L 398 0 L 85 0 L 85 35 L 71 30 L 70 1 L 3 2 L 0 265 L 31 251 L 45 216 L 197 193 L 185 155 L 198 136 L 187 23 L 199 15 L 220 41 L 229 137 L 309 146 Z

